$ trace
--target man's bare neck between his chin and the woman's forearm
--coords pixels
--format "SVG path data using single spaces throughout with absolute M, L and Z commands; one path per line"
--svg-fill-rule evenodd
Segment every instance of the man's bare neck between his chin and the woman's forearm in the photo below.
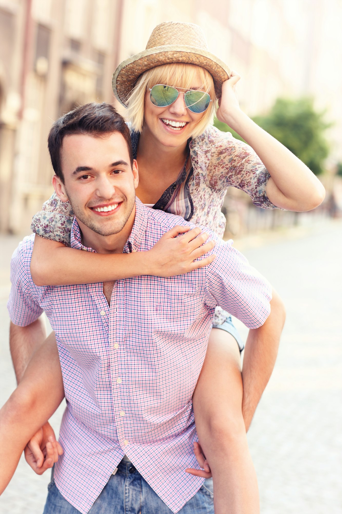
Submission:
M 117 234 L 101 235 L 94 232 L 79 219 L 77 222 L 80 226 L 82 244 L 87 248 L 92 248 L 97 253 L 122 253 L 128 237 L 132 231 L 136 216 L 136 206 L 134 206 L 130 216 L 123 227 Z

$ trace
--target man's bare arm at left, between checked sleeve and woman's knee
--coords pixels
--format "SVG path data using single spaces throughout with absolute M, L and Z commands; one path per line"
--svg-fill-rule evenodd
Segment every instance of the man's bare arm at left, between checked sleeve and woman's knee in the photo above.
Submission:
M 21 381 L 33 353 L 45 339 L 46 328 L 42 316 L 27 326 L 10 323 L 10 352 L 17 383 Z

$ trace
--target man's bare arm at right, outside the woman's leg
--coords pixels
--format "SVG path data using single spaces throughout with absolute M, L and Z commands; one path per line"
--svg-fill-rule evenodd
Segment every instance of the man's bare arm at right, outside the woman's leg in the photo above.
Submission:
M 271 377 L 284 322 L 283 303 L 273 290 L 271 314 L 260 328 L 250 330 L 243 356 L 242 414 L 246 430 L 250 427 L 255 409 Z

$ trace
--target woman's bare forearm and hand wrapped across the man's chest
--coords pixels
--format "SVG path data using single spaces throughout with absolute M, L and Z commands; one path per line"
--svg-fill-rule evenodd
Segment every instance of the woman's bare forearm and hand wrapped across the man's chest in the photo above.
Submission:
M 183 234 L 181 237 L 177 237 Z M 172 277 L 213 262 L 215 255 L 194 262 L 215 246 L 200 228 L 176 226 L 146 252 L 94 253 L 35 236 L 31 275 L 38 286 L 88 284 L 140 275 Z

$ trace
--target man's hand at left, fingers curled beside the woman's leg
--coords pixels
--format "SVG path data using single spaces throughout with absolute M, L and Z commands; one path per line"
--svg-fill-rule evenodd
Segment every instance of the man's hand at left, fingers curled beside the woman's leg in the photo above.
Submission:
M 31 437 L 24 453 L 26 462 L 37 475 L 42 475 L 58 461 L 59 455 L 63 454 L 63 449 L 56 441 L 48 421 Z

